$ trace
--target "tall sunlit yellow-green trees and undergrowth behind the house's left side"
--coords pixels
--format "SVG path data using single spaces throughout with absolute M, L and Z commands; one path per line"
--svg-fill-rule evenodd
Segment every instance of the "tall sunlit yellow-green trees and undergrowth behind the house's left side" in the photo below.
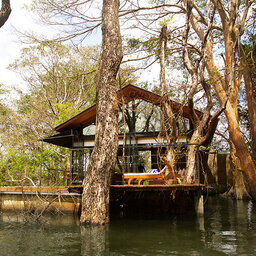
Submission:
M 95 103 L 99 47 L 76 48 L 53 41 L 26 47 L 10 65 L 28 84 L 28 93 L 0 103 L 0 184 L 58 184 L 69 167 L 70 151 L 44 144 L 41 169 L 41 142 L 53 128 Z M 118 85 L 134 83 L 137 77 L 129 66 L 120 70 Z M 0 86 L 0 96 L 10 94 Z

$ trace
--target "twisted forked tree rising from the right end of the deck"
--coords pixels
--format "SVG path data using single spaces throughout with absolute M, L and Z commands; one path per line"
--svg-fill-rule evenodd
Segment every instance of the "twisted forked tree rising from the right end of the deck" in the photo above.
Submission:
M 183 56 L 184 56 L 184 64 L 191 76 L 192 85 L 189 90 L 188 94 L 188 107 L 190 110 L 191 122 L 193 124 L 194 130 L 191 136 L 188 149 L 187 149 L 187 161 L 186 161 L 186 172 L 185 172 L 185 183 L 192 184 L 196 180 L 196 168 L 199 165 L 197 163 L 197 152 L 199 146 L 204 145 L 208 146 L 211 142 L 212 136 L 216 129 L 218 123 L 219 115 L 224 111 L 224 107 L 221 108 L 211 116 L 210 111 L 213 107 L 212 95 L 210 90 L 210 84 L 206 82 L 204 77 L 205 73 L 205 43 L 202 44 L 201 54 L 199 58 L 193 63 L 189 57 L 189 50 L 188 50 L 188 37 L 189 37 L 189 30 L 190 30 L 190 20 L 192 16 L 192 9 L 193 3 L 192 1 L 184 1 L 186 6 L 186 25 L 183 34 Z M 208 29 L 210 31 L 212 25 L 212 20 L 209 20 Z M 209 34 L 206 33 L 204 35 L 204 42 L 208 40 Z M 204 90 L 204 94 L 207 100 L 206 108 L 203 112 L 202 116 L 198 116 L 196 114 L 194 108 L 194 97 L 197 92 L 198 85 L 201 84 Z M 198 175 L 199 178 L 199 175 Z M 198 182 L 199 180 L 197 180 Z

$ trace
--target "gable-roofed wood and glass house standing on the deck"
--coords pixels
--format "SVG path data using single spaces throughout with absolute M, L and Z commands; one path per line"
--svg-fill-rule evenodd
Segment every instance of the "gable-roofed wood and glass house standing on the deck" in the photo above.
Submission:
M 143 172 L 146 169 L 162 168 L 160 154 L 167 148 L 167 141 L 161 125 L 161 96 L 128 85 L 117 92 L 119 101 L 119 150 L 116 172 Z M 177 117 L 180 151 L 189 143 L 193 130 L 189 109 L 172 102 Z M 200 116 L 202 113 L 197 111 Z M 56 135 L 43 141 L 71 149 L 72 167 L 70 181 L 82 183 L 94 147 L 96 105 L 67 120 L 55 128 Z M 179 168 L 185 167 L 185 156 L 177 160 Z

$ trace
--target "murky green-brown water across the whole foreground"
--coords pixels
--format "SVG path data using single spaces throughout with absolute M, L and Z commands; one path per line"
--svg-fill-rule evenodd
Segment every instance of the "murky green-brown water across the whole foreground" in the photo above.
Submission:
M 0 256 L 13 255 L 256 255 L 256 203 L 212 197 L 204 217 L 114 219 L 105 227 L 80 227 L 70 216 L 24 223 L 0 214 Z

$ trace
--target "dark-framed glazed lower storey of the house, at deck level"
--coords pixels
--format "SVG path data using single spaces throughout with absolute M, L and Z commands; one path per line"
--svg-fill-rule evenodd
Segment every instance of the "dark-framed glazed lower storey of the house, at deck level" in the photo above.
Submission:
M 160 172 L 165 164 L 161 160 L 166 156 L 168 148 L 175 148 L 175 168 L 177 177 L 184 177 L 187 165 L 187 148 L 191 144 L 154 144 L 154 145 L 126 145 L 125 148 L 119 147 L 117 162 L 113 173 L 149 173 Z M 72 169 L 63 172 L 64 184 L 82 184 L 84 173 L 87 171 L 89 163 L 89 153 L 91 149 L 79 148 L 72 150 Z M 197 148 L 195 156 L 195 176 L 194 183 L 203 182 L 202 152 Z

